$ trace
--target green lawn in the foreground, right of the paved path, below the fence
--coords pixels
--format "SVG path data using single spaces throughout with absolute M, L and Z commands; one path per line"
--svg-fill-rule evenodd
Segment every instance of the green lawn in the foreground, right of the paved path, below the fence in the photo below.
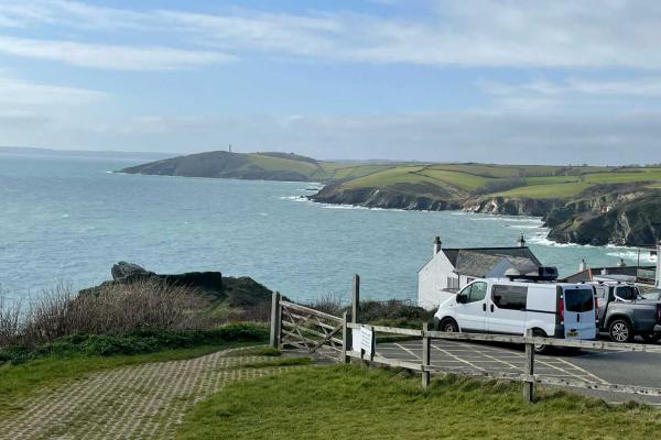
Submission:
M 659 411 L 521 385 L 358 366 L 300 369 L 240 382 L 195 406 L 178 439 L 651 439 Z

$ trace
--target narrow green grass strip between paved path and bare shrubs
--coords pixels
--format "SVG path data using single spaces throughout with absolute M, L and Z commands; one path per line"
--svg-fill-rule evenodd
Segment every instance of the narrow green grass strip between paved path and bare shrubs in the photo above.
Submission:
M 22 364 L 0 366 L 0 418 L 10 404 L 19 397 L 33 395 L 40 388 L 80 380 L 100 370 L 199 358 L 235 346 L 254 345 L 256 342 L 226 342 L 189 349 L 164 350 L 148 354 L 90 356 L 78 353 L 68 356 L 51 355 Z

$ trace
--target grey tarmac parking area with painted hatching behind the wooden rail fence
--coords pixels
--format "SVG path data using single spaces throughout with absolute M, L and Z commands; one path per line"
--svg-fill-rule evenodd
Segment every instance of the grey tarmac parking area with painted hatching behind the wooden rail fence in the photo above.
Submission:
M 422 360 L 420 341 L 379 344 L 377 353 L 384 358 L 412 362 Z M 433 341 L 431 355 L 432 365 L 452 367 L 457 373 L 462 371 L 521 373 L 525 362 L 523 350 L 514 345 L 464 341 Z M 535 374 L 541 376 L 661 388 L 661 354 L 655 353 L 557 351 L 553 355 L 535 356 L 534 365 Z M 595 395 L 607 402 L 640 400 L 661 405 L 659 397 L 570 389 Z

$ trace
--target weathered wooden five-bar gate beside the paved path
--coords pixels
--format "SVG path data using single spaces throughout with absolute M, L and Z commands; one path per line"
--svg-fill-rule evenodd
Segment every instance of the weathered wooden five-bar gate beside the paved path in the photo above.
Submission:
M 271 344 L 303 350 L 338 361 L 346 353 L 346 314 L 343 318 L 282 300 L 274 294 Z

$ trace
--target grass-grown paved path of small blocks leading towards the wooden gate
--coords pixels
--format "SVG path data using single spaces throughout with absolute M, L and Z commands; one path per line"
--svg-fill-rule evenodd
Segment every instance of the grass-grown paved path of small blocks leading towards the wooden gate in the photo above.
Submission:
M 94 373 L 15 403 L 0 439 L 167 439 L 191 406 L 224 385 L 284 367 L 227 350 L 203 358 Z M 250 367 L 243 365 L 250 363 Z

